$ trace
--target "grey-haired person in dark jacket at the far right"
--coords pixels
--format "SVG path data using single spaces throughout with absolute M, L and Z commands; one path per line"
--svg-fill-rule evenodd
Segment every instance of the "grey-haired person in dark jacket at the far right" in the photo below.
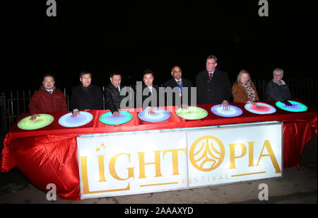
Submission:
M 287 100 L 290 98 L 290 91 L 288 85 L 283 81 L 283 74 L 283 69 L 276 68 L 273 70 L 273 80 L 269 81 L 266 86 L 266 99 L 291 105 Z

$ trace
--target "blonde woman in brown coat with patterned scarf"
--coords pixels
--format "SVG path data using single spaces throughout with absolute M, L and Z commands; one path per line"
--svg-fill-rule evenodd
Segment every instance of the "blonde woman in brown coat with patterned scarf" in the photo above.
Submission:
M 232 95 L 234 102 L 250 103 L 257 106 L 254 101 L 259 101 L 259 96 L 247 70 L 242 69 L 237 75 L 237 81 L 232 86 Z

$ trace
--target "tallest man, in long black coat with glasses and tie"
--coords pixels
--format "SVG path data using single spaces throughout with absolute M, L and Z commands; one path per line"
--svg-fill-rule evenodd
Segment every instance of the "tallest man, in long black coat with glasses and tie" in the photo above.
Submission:
M 216 69 L 218 58 L 210 55 L 206 59 L 206 70 L 196 75 L 196 100 L 198 104 L 220 103 L 229 109 L 232 95 L 230 80 L 225 71 Z

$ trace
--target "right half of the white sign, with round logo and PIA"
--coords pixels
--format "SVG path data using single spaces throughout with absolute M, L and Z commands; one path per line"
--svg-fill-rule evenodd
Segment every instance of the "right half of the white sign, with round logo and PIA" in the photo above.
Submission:
M 189 187 L 282 176 L 281 125 L 187 133 Z

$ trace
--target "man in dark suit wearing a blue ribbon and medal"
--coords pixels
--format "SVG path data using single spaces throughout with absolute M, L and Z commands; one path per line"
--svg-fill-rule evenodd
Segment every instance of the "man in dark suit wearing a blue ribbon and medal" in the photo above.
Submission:
M 176 105 L 177 103 L 180 103 L 182 105 L 182 108 L 187 108 L 187 106 L 191 103 L 191 87 L 192 87 L 192 81 L 189 79 L 182 78 L 182 69 L 178 66 L 175 66 L 171 70 L 172 79 L 169 79 L 168 81 L 165 81 L 163 84 L 165 87 L 170 88 L 178 88 L 177 93 L 167 93 L 171 94 L 172 96 L 167 96 L 167 105 Z M 183 98 L 182 98 L 183 96 Z M 184 97 L 187 97 L 187 99 L 184 99 Z M 170 101 L 172 99 L 172 102 Z

